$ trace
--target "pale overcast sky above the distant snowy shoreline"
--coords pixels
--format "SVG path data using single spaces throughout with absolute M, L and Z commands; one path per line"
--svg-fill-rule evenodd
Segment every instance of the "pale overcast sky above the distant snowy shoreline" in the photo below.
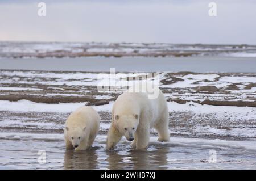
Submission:
M 253 0 L 39 2 L 0 1 L 0 40 L 256 44 Z

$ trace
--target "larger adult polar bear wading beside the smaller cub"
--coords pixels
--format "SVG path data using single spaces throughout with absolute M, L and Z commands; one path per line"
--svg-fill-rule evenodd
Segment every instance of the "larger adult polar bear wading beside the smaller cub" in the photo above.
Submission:
M 138 87 L 138 86 L 135 86 Z M 107 138 L 107 149 L 113 149 L 122 136 L 133 141 L 136 149 L 147 148 L 150 140 L 150 128 L 158 131 L 158 141 L 169 141 L 169 113 L 166 99 L 158 87 L 154 87 L 158 96 L 150 98 L 150 93 L 141 89 L 129 89 L 118 96 L 112 108 L 112 123 Z

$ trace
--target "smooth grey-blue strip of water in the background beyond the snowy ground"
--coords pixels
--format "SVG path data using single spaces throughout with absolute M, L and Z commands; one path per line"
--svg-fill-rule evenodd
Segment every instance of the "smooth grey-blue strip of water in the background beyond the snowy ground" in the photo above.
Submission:
M 1 69 L 60 71 L 255 72 L 250 57 L 122 57 L 0 59 Z

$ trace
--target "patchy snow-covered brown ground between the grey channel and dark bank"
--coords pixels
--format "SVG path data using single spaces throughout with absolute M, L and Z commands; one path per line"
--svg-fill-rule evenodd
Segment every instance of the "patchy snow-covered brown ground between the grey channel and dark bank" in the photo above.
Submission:
M 97 86 L 122 88 L 134 85 L 139 77 L 147 75 L 150 74 L 117 73 L 113 76 L 109 73 L 1 70 L 0 95 L 90 95 L 95 99 L 106 99 L 112 97 L 109 95 L 111 92 L 101 95 Z M 159 73 L 156 83 L 159 83 L 167 99 L 255 102 L 255 76 L 255 73 Z

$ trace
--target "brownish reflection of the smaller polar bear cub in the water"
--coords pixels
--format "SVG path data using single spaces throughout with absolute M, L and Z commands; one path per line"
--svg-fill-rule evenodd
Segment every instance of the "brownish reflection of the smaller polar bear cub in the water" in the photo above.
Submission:
M 63 167 L 64 169 L 97 169 L 96 150 L 94 148 L 86 151 L 66 150 Z

